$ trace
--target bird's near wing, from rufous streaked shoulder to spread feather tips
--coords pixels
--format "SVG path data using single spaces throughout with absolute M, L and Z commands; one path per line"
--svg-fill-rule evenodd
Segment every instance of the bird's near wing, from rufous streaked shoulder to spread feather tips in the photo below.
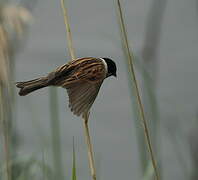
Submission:
M 69 107 L 75 115 L 90 110 L 105 77 L 106 69 L 100 59 L 83 59 L 72 75 L 61 83 L 67 89 Z

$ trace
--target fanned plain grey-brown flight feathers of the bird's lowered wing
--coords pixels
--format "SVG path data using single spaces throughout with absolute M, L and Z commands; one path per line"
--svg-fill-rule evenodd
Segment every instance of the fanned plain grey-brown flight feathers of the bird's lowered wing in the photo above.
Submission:
M 102 82 L 92 84 L 87 81 L 78 82 L 68 86 L 69 107 L 77 115 L 88 112 L 96 99 Z

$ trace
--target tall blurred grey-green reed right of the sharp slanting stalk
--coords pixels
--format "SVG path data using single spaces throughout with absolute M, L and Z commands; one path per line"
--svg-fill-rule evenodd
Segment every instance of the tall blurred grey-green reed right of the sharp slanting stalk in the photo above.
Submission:
M 163 16 L 166 9 L 166 0 L 153 0 L 148 12 L 145 28 L 145 37 L 143 48 L 141 52 L 142 64 L 144 70 L 142 71 L 142 87 L 143 87 L 143 101 L 145 104 L 145 111 L 148 117 L 148 122 L 151 129 L 151 139 L 153 142 L 154 151 L 158 159 L 158 166 L 160 171 L 160 179 L 162 179 L 161 154 L 160 154 L 160 116 L 158 110 L 158 102 L 156 97 L 157 80 L 159 71 L 158 52 L 161 37 L 161 26 L 163 23 Z M 153 28 L 155 27 L 155 28 Z M 148 155 L 144 152 L 143 161 L 148 161 Z M 143 164 L 143 171 L 149 167 L 149 164 Z

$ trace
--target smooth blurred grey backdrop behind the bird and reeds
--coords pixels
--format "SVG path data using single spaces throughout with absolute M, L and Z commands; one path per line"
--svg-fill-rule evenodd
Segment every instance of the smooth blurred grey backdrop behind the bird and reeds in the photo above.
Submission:
M 122 2 L 130 44 L 138 56 L 152 0 Z M 90 116 L 97 173 L 100 179 L 140 179 L 137 129 L 131 112 L 115 3 L 113 0 L 68 0 L 67 5 L 77 56 L 111 57 L 118 67 L 118 78 L 105 80 Z M 26 47 L 16 59 L 16 81 L 45 75 L 69 60 L 60 2 L 38 1 L 33 15 L 34 23 Z M 157 97 L 161 120 L 158 128 L 162 137 L 164 179 L 186 180 L 192 168 L 188 134 L 195 124 L 198 109 L 197 17 L 196 0 L 167 1 L 157 52 Z M 33 154 L 39 157 L 45 151 L 47 159 L 51 159 L 48 92 L 46 88 L 27 97 L 17 96 L 19 156 Z M 67 107 L 66 91 L 59 88 L 58 94 L 64 173 L 67 178 L 71 175 L 74 136 L 77 173 L 79 179 L 86 180 L 89 171 L 82 120 L 73 116 Z M 178 130 L 179 138 L 174 140 L 172 134 Z M 182 158 L 178 157 L 178 151 Z

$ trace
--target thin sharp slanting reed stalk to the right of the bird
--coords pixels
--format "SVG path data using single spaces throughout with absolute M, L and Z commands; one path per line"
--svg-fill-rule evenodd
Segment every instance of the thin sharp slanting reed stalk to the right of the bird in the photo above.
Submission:
M 128 65 L 129 65 L 128 66 L 129 67 L 129 75 L 130 75 L 131 82 L 134 84 L 136 101 L 137 101 L 138 108 L 139 108 L 138 109 L 139 110 L 139 115 L 142 119 L 144 134 L 145 134 L 146 142 L 147 142 L 147 145 L 148 145 L 148 151 L 149 151 L 150 156 L 151 156 L 152 165 L 153 165 L 153 168 L 154 168 L 154 171 L 155 171 L 155 177 L 156 177 L 156 180 L 159 180 L 159 173 L 158 173 L 158 170 L 157 170 L 157 164 L 156 164 L 156 160 L 155 160 L 155 157 L 154 157 L 153 147 L 152 147 L 151 140 L 150 140 L 150 135 L 149 135 L 149 129 L 148 129 L 147 121 L 146 121 L 146 118 L 145 118 L 144 108 L 143 108 L 143 104 L 142 104 L 142 101 L 141 101 L 139 87 L 138 87 L 138 83 L 137 83 L 137 79 L 136 79 L 136 75 L 135 75 L 134 63 L 133 63 L 133 54 L 130 51 L 128 38 L 127 38 L 127 33 L 126 33 L 126 28 L 125 28 L 125 24 L 124 24 L 122 8 L 121 8 L 121 4 L 120 4 L 119 0 L 117 0 L 117 6 L 118 6 L 118 11 L 119 11 L 120 28 L 121 28 L 121 32 L 122 32 L 122 36 L 123 36 L 123 44 L 124 44 L 124 47 L 126 49 L 126 54 L 127 54 L 127 57 L 128 57 L 127 59 L 128 59 Z

